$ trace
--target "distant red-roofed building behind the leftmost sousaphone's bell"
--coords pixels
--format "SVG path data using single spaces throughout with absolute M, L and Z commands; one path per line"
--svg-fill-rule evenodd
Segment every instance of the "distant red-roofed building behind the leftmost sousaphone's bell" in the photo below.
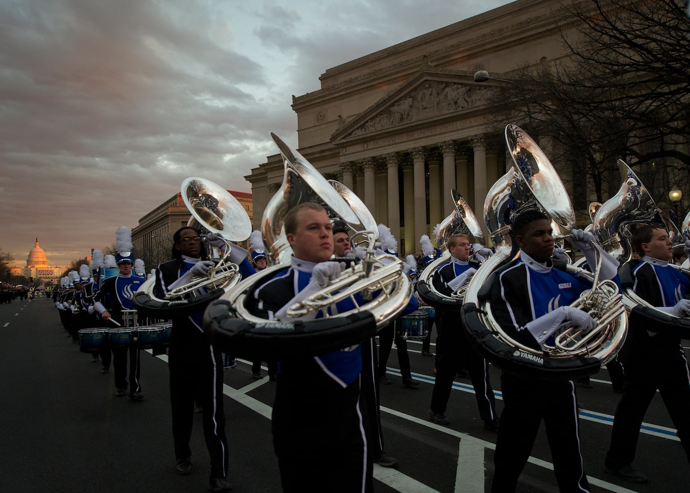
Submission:
M 242 204 L 253 224 L 252 194 L 233 190 L 228 192 Z M 147 272 L 159 263 L 170 260 L 172 233 L 186 226 L 191 217 L 181 193 L 177 193 L 139 219 L 139 225 L 132 229 L 133 252 L 135 258 L 144 260 Z

